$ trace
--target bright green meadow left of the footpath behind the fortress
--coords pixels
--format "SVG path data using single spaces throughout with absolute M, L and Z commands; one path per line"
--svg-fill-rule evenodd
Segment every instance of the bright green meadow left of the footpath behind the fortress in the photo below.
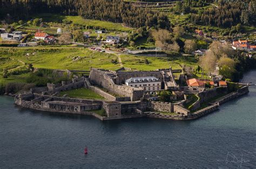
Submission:
M 28 53 L 29 56 L 26 55 Z M 31 63 L 35 68 L 48 69 L 89 70 L 90 67 L 96 67 L 114 70 L 119 68 L 119 64 L 112 64 L 112 59 L 117 59 L 117 56 L 90 51 L 82 47 L 0 48 L 0 72 L 3 68 L 12 69 L 21 66 L 22 62 Z

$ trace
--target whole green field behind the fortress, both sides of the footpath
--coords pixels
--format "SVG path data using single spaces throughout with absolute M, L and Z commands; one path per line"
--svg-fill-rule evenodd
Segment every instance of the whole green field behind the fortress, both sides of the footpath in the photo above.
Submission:
M 120 55 L 126 68 L 139 71 L 152 71 L 158 68 L 180 69 L 180 65 L 196 66 L 194 57 L 169 56 L 168 58 L 138 57 L 135 55 Z M 25 82 L 28 76 L 28 65 L 34 68 L 87 70 L 91 67 L 110 70 L 119 69 L 121 64 L 116 54 L 90 51 L 83 47 L 0 47 L 0 83 Z M 3 69 L 8 69 L 7 79 L 2 78 Z

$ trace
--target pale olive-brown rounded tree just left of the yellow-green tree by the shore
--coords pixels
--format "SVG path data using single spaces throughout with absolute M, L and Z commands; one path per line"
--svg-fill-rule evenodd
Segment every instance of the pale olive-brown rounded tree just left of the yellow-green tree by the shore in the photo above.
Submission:
M 216 68 L 217 57 L 212 51 L 207 51 L 203 57 L 199 59 L 199 65 L 207 73 L 211 73 Z

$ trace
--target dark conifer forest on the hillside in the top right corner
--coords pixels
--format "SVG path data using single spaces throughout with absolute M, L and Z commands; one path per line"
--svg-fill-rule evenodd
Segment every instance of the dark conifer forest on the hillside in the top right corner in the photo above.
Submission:
M 218 8 L 208 8 L 203 13 L 192 13 L 191 20 L 196 24 L 218 27 L 231 27 L 237 24 L 255 25 L 256 0 L 223 2 Z

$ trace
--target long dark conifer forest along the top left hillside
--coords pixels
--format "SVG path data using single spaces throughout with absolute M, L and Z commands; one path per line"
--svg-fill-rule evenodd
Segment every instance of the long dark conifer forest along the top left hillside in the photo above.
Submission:
M 0 0 L 0 6 L 0 18 L 5 20 L 29 19 L 37 13 L 59 13 L 124 23 L 130 27 L 170 28 L 170 21 L 163 13 L 137 8 L 122 0 Z

